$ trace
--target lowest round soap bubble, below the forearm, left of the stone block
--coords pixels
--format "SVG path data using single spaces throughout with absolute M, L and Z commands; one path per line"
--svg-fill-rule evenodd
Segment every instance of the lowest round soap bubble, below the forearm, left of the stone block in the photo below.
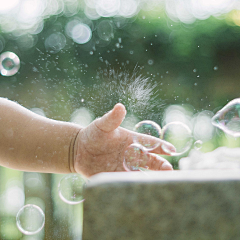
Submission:
M 25 235 L 33 235 L 42 230 L 45 224 L 43 210 L 33 204 L 22 207 L 17 216 L 16 223 L 19 231 Z

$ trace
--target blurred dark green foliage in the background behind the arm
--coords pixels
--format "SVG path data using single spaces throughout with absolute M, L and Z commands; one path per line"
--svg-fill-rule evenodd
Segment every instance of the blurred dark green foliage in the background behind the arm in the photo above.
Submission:
M 3 52 L 12 51 L 21 60 L 16 75 L 0 76 L 1 97 L 27 108 L 41 108 L 47 117 L 64 121 L 69 121 L 80 107 L 88 108 L 97 117 L 115 103 L 123 102 L 139 120 L 151 118 L 159 124 L 168 105 L 191 105 L 193 114 L 202 110 L 215 113 L 239 97 L 240 27 L 229 16 L 210 17 L 192 24 L 174 22 L 164 11 L 142 10 L 131 19 L 100 18 L 92 21 L 90 42 L 81 45 L 66 37 L 66 46 L 60 52 L 46 51 L 44 41 L 49 34 L 65 34 L 66 23 L 76 17 L 83 18 L 83 13 L 46 19 L 36 45 L 27 50 L 19 44 L 19 38 L 1 33 L 5 39 Z M 98 24 L 106 19 L 113 26 L 109 41 L 99 39 L 97 34 Z M 147 89 L 154 86 L 145 103 L 141 96 L 132 99 L 131 94 L 124 95 L 139 75 L 148 78 Z M 120 87 L 122 83 L 125 85 Z M 204 143 L 202 150 L 211 151 L 221 145 L 236 147 L 239 141 L 218 131 L 214 139 Z M 179 158 L 168 159 L 177 169 Z M 13 172 L 1 168 L 0 193 L 12 179 L 10 173 Z M 19 177 L 18 173 L 13 175 Z M 26 198 L 37 195 L 45 201 L 45 239 L 74 239 L 72 232 L 81 234 L 81 206 L 59 203 L 56 192 L 59 176 L 43 174 L 43 179 L 45 195 L 31 195 L 27 187 L 25 194 Z M 0 239 L 28 239 L 22 238 L 16 229 L 14 216 L 2 212 L 0 217 Z M 70 226 L 75 230 L 70 232 Z

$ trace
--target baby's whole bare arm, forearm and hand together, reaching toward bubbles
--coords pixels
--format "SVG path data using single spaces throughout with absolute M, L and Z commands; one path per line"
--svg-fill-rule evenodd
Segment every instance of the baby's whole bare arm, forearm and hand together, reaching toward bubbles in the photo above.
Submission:
M 156 154 L 166 154 L 158 138 L 120 127 L 126 115 L 118 103 L 86 128 L 56 121 L 0 98 L 0 165 L 28 172 L 81 173 L 87 177 L 99 172 L 125 171 L 124 152 L 138 136 L 159 146 L 147 153 L 151 170 L 172 170 L 171 164 Z

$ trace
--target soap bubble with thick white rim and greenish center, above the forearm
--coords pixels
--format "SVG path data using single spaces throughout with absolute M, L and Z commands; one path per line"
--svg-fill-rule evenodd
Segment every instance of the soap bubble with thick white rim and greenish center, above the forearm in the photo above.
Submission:
M 0 73 L 2 76 L 12 76 L 20 68 L 20 59 L 13 52 L 4 52 L 0 55 Z

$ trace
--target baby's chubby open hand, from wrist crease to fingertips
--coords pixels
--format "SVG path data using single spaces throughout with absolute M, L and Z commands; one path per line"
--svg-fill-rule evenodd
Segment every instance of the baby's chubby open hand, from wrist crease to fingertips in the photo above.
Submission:
M 75 142 L 74 169 L 76 172 L 90 177 L 99 172 L 125 171 L 123 168 L 124 152 L 133 143 L 134 136 L 139 135 L 139 133 L 120 127 L 125 115 L 124 105 L 118 103 L 110 112 L 94 120 L 79 132 Z M 175 151 L 174 146 L 149 135 L 142 135 L 142 138 L 148 142 L 159 141 L 159 146 L 151 153 L 147 153 L 149 168 L 151 170 L 172 170 L 172 165 L 157 154 L 169 155 L 163 151 L 162 144 L 172 152 Z

